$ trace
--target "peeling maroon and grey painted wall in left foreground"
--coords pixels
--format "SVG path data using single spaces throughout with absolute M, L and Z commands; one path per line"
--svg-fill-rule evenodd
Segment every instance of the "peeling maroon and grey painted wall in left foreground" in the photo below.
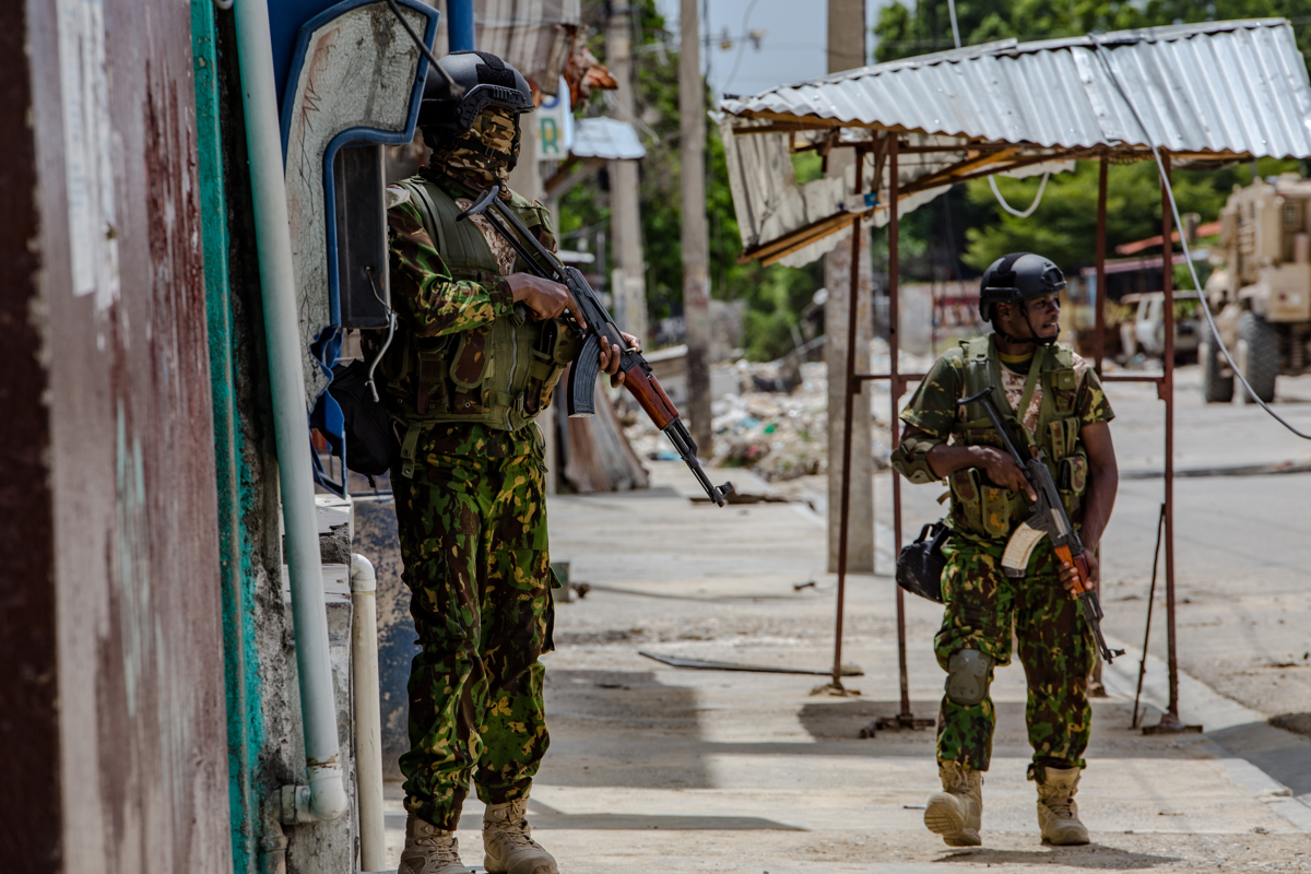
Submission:
M 232 866 L 189 12 L 0 4 L 7 871 Z

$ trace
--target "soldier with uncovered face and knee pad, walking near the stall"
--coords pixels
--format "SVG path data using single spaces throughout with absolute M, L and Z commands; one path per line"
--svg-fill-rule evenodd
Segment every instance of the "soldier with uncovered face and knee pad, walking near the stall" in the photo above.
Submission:
M 1074 794 L 1084 768 L 1091 708 L 1092 636 L 1067 591 L 1074 567 L 1049 540 L 1024 577 L 1002 570 L 1002 553 L 1034 499 L 1019 465 L 978 404 L 957 401 L 992 387 L 1012 439 L 1041 452 L 1076 527 L 1097 582 L 1095 553 L 1110 518 L 1118 474 L 1110 442 L 1110 405 L 1097 375 L 1059 334 L 1061 271 L 1046 258 L 1013 254 L 983 275 L 979 313 L 994 333 L 964 341 L 935 362 L 906 410 L 906 434 L 893 466 L 911 482 L 947 480 L 952 536 L 944 545 L 945 611 L 935 639 L 947 671 L 939 713 L 937 761 L 943 793 L 929 798 L 924 824 L 952 846 L 979 837 L 983 772 L 992 752 L 992 670 L 1011 662 L 1012 628 L 1029 696 L 1025 718 L 1038 788 L 1044 841 L 1087 844 Z

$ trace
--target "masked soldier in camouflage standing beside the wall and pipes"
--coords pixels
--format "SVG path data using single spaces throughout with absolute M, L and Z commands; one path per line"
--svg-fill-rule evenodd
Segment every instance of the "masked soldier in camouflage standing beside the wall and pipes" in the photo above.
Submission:
M 420 127 L 431 160 L 388 189 L 399 326 L 383 371 L 401 439 L 392 484 L 421 646 L 409 680 L 412 748 L 400 759 L 409 811 L 400 874 L 469 874 L 455 828 L 471 780 L 488 806 L 486 870 L 557 874 L 524 818 L 549 743 L 538 658 L 552 649 L 553 621 L 534 417 L 578 349 L 561 316 L 582 316 L 564 286 L 524 273 L 482 216 L 456 220 L 499 185 L 555 248 L 549 214 L 507 186 L 518 117 L 534 107 L 527 83 L 485 52 L 440 64 L 463 94 L 429 75 Z M 600 366 L 623 381 L 617 347 L 600 352 Z

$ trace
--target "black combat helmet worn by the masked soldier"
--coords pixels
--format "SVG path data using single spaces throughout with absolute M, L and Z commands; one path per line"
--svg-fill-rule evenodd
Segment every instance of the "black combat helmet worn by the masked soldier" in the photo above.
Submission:
M 486 51 L 452 51 L 438 64 L 446 75 L 429 71 L 418 110 L 418 128 L 429 147 L 442 148 L 468 132 L 473 119 L 488 106 L 514 113 L 518 145 L 518 117 L 534 110 L 532 89 L 523 73 Z M 514 159 L 506 157 L 513 168 Z

